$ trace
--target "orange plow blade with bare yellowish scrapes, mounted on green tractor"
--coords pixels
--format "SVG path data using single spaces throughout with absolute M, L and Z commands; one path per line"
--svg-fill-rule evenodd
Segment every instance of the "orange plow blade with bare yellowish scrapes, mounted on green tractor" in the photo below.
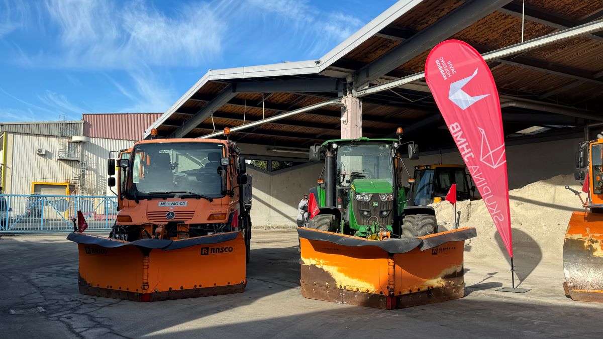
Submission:
M 464 241 L 477 235 L 473 227 L 384 241 L 297 232 L 302 296 L 382 309 L 463 297 Z

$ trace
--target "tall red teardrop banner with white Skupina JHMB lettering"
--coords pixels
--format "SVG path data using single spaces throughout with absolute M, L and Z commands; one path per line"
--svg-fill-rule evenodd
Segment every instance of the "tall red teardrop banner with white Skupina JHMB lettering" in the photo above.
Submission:
M 472 46 L 447 40 L 429 53 L 425 80 L 513 257 L 505 139 L 490 68 Z

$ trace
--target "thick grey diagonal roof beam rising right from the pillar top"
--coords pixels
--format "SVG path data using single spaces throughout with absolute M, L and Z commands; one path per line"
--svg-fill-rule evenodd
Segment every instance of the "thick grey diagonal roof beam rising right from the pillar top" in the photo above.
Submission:
M 356 90 L 409 62 L 455 33 L 469 27 L 511 0 L 470 0 L 356 72 Z

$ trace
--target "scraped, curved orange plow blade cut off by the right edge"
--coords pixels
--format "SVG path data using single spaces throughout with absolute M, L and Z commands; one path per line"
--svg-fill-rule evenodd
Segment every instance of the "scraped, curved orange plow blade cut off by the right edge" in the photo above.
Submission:
M 581 302 L 603 302 L 603 214 L 573 212 L 563 242 L 565 293 Z

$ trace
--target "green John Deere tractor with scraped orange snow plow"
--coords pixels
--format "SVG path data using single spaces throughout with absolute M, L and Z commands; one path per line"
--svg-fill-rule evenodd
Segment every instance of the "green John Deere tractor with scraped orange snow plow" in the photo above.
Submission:
M 438 232 L 433 208 L 410 206 L 397 134 L 311 147 L 310 160 L 325 165 L 308 227 L 297 229 L 304 297 L 384 309 L 463 297 L 464 241 L 476 230 Z M 417 159 L 417 145 L 406 144 Z

